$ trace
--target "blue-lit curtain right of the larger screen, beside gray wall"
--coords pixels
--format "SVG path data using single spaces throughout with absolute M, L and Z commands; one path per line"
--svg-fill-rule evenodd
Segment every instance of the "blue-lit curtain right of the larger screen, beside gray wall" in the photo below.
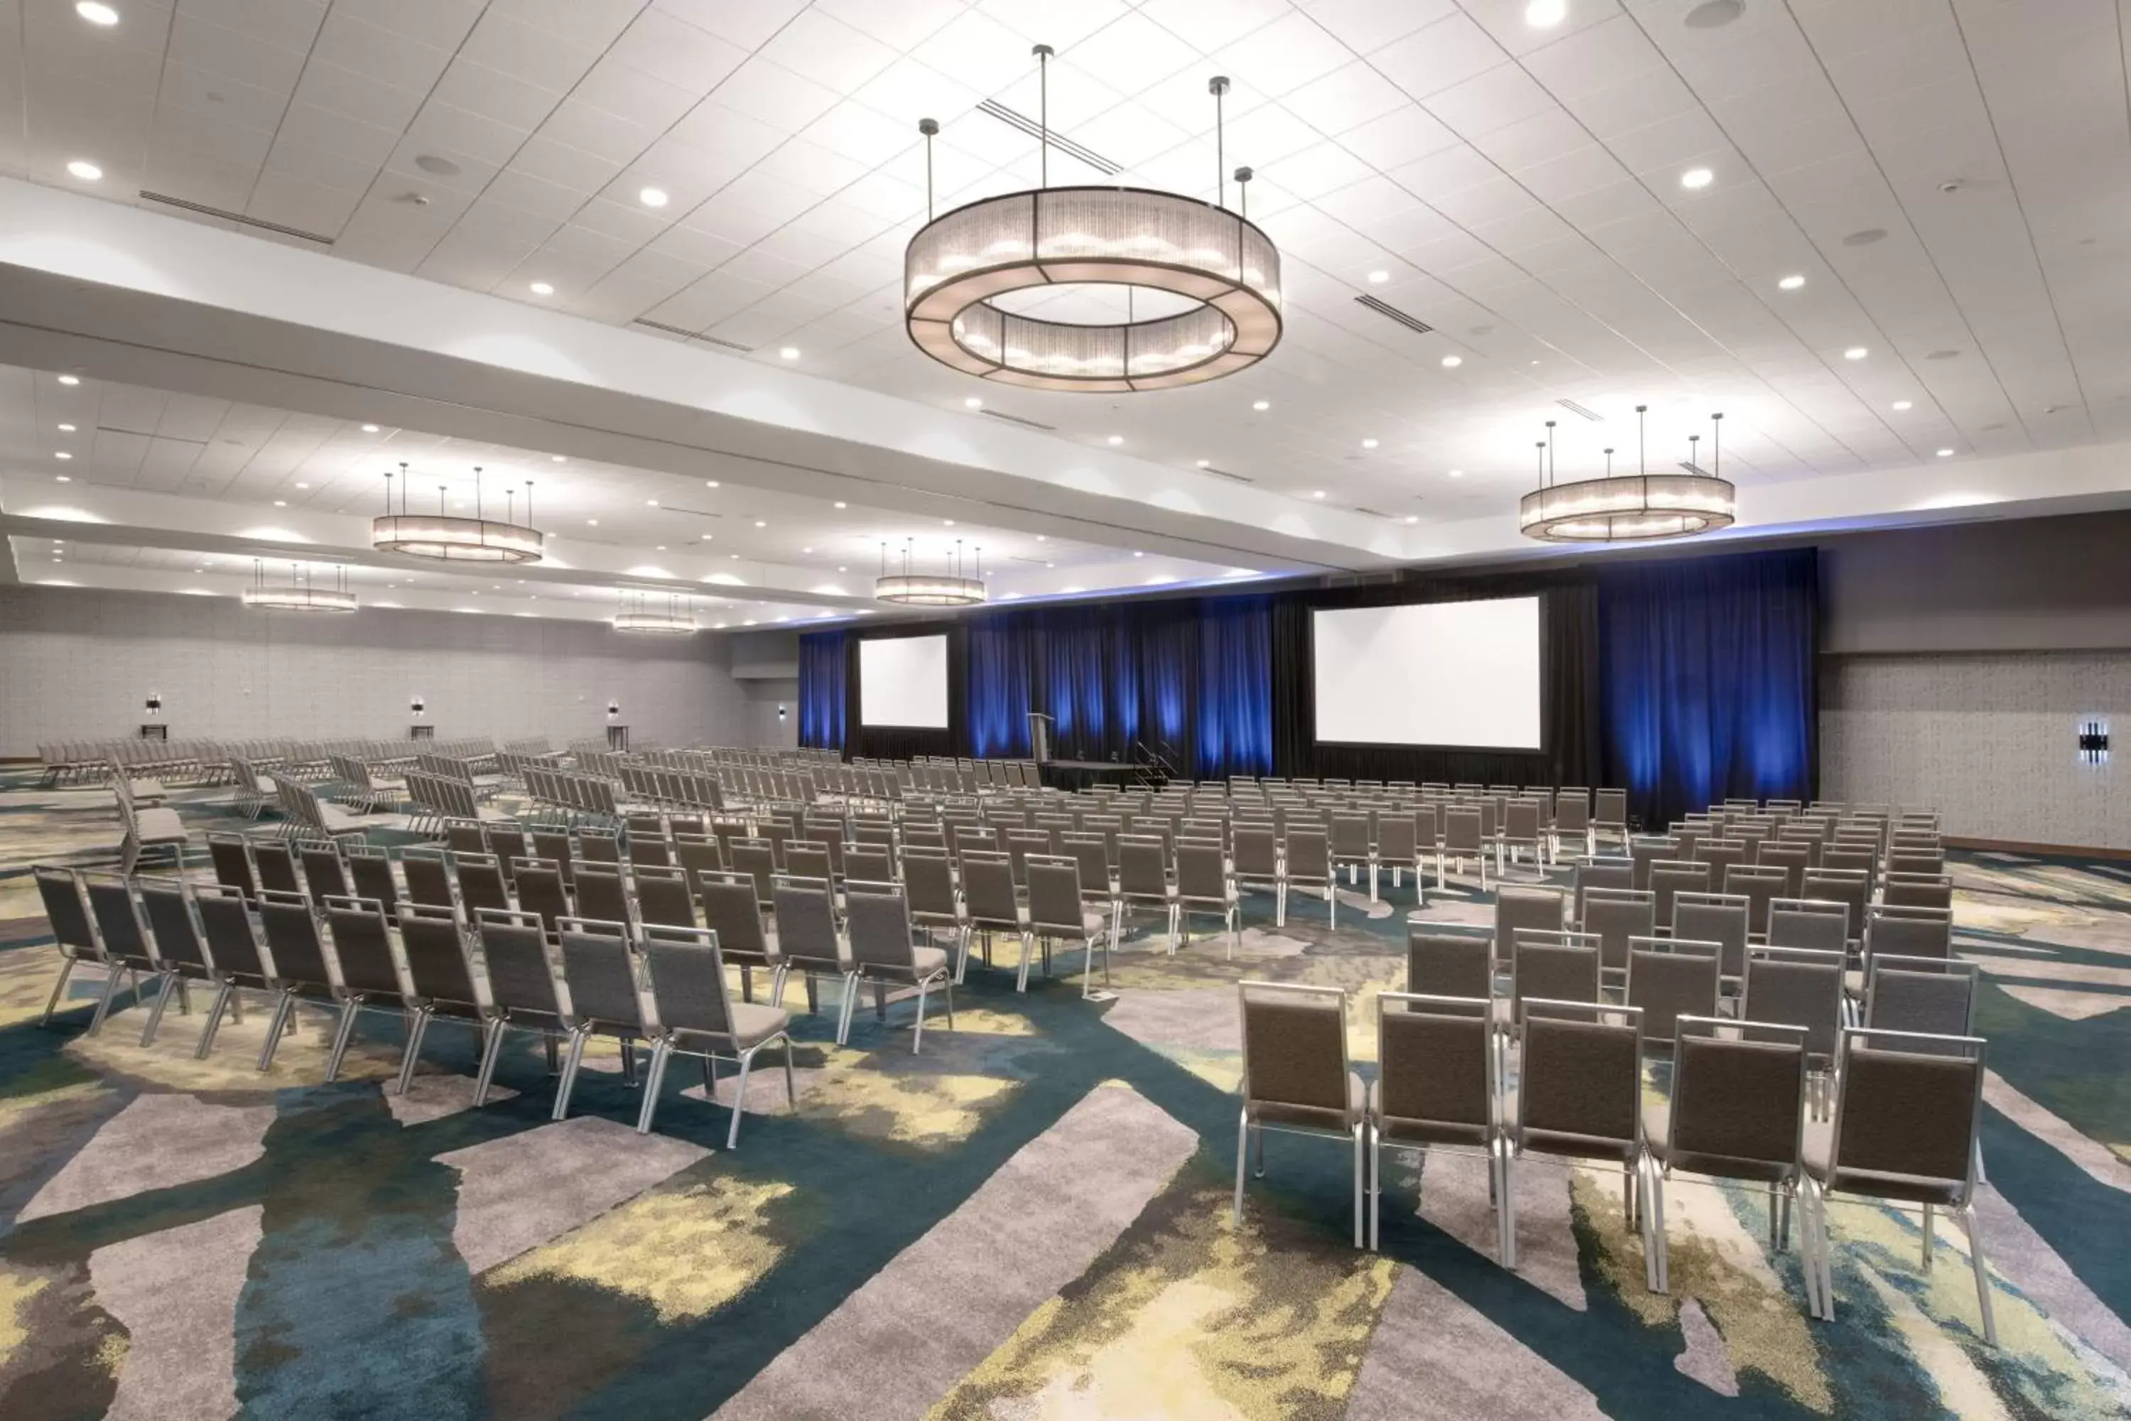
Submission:
M 1605 782 L 1630 816 L 1813 797 L 1818 603 L 1809 548 L 1600 569 Z

